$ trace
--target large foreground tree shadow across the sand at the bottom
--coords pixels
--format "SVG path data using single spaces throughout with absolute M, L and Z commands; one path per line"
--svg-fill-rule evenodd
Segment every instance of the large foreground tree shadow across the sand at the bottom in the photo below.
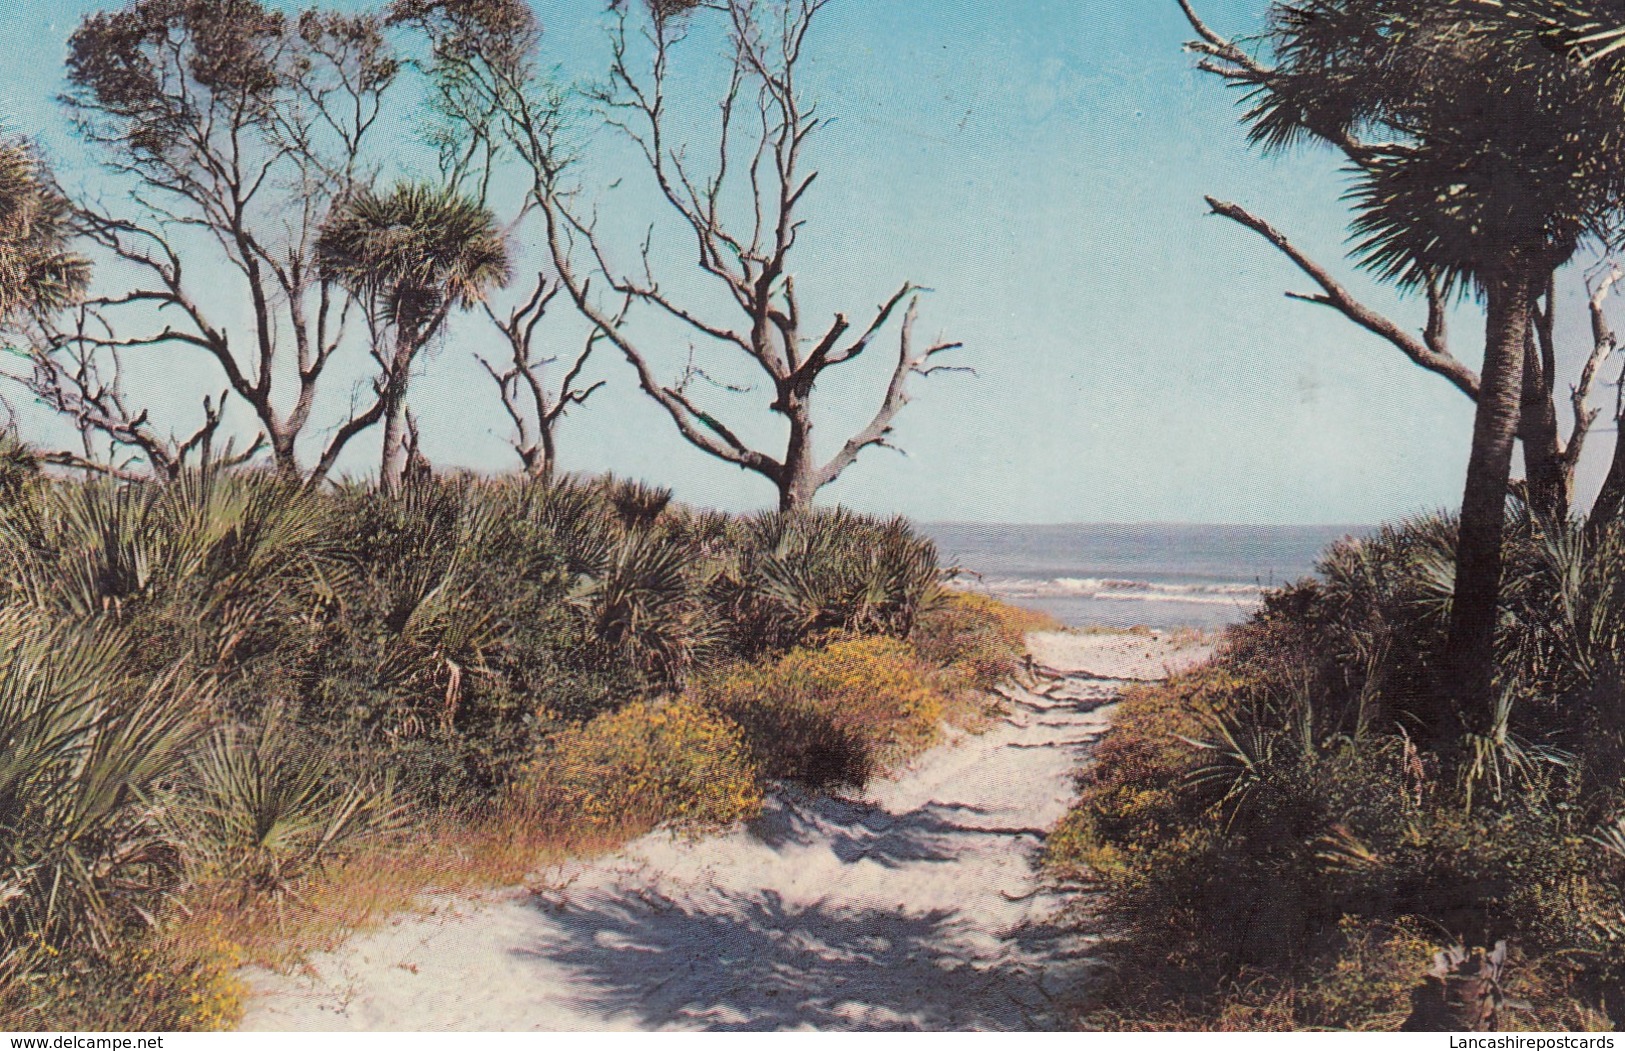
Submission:
M 964 931 L 951 916 L 791 908 L 772 892 L 666 911 L 590 902 L 551 918 L 567 937 L 543 954 L 592 989 L 575 1007 L 637 1028 L 1056 1027 L 1048 983 L 956 954 Z

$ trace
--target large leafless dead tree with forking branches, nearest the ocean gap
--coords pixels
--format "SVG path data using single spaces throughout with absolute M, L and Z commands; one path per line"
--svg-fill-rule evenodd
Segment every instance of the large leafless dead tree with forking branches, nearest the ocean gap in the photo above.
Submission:
M 609 78 L 592 91 L 592 101 L 608 127 L 640 153 L 665 218 L 684 231 L 700 276 L 720 292 L 718 314 L 700 305 L 702 294 L 682 297 L 670 291 L 671 283 L 656 273 L 665 268 L 656 268 L 650 240 L 632 266 L 613 260 L 593 206 L 569 180 L 574 164 L 562 101 L 536 76 L 533 21 L 526 23 L 525 37 L 512 26 L 502 34 L 510 47 L 502 60 L 458 55 L 457 49 L 440 52 L 440 75 L 481 101 L 466 107 L 468 117 L 500 114 L 509 146 L 530 169 L 531 200 L 546 224 L 554 275 L 575 307 L 632 365 L 644 393 L 665 409 L 684 440 L 765 478 L 783 508 L 808 505 L 863 450 L 892 447 L 894 422 L 908 403 L 908 382 L 947 369 L 938 357 L 960 346 L 916 336 L 918 297 L 925 289 L 913 283 L 899 286 L 861 322 L 837 314 L 819 325 L 803 314 L 793 263 L 806 224 L 806 198 L 817 180 L 808 145 L 824 120 L 804 97 L 798 70 L 826 3 L 653 0 L 642 13 L 630 10 L 632 5 L 613 5 Z M 500 0 L 416 6 L 432 6 L 444 24 L 455 26 L 444 32 L 445 39 L 478 36 L 478 28 L 470 29 L 478 23 L 470 16 L 473 6 L 500 8 L 504 18 L 518 18 L 522 8 Z M 702 18 L 720 23 L 730 41 L 726 83 L 715 101 L 717 122 L 704 149 L 676 133 L 684 122 L 673 115 L 670 99 L 673 63 Z M 666 341 L 694 344 L 699 361 L 731 357 L 760 375 L 772 391 L 769 411 L 786 424 L 783 447 L 754 447 L 741 437 L 738 424 L 707 404 L 694 383 L 707 378 L 702 367 L 666 378 L 647 320 L 676 327 L 686 338 Z M 879 408 L 840 448 L 821 458 L 812 440 L 817 380 L 863 357 L 894 322 L 895 364 Z

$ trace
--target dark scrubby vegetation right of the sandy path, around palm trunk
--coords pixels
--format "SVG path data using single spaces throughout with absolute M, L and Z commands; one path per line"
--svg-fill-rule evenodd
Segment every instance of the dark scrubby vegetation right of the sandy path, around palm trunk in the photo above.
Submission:
M 1124 699 L 1048 845 L 1115 924 L 1092 1025 L 1398 1028 L 1502 939 L 1503 1028 L 1625 1012 L 1625 536 L 1508 523 L 1495 718 L 1441 726 L 1453 531 L 1334 546 Z

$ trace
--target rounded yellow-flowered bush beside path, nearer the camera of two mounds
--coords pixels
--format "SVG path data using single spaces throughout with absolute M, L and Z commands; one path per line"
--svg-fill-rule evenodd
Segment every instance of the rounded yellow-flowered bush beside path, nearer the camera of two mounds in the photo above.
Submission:
M 632 833 L 705 827 L 762 806 L 739 729 L 691 700 L 640 700 L 559 733 L 525 785 L 541 820 Z

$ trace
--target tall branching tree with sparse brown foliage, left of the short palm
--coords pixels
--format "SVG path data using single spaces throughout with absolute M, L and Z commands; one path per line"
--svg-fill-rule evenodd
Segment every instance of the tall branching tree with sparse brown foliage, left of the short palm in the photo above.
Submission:
M 75 352 L 202 351 L 257 417 L 255 447 L 299 474 L 299 440 L 349 317 L 314 244 L 333 203 L 370 177 L 367 145 L 396 68 L 370 15 L 136 0 L 88 16 L 70 41 L 63 101 L 122 185 L 115 205 L 84 201 L 81 226 L 112 270 L 135 276 L 89 304 L 115 335 L 75 340 Z M 244 301 L 247 323 L 226 320 Z M 312 481 L 366 426 L 356 414 L 335 426 Z

